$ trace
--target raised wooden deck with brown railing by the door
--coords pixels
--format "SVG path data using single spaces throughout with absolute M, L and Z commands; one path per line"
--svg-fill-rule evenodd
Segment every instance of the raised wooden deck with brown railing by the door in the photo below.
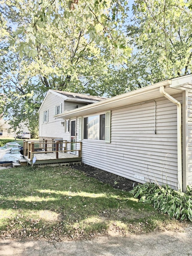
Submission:
M 37 143 L 37 142 L 35 142 Z M 42 143 L 38 141 L 38 143 Z M 45 143 L 45 142 L 44 142 Z M 65 142 L 70 143 L 70 142 Z M 28 164 L 33 164 L 33 158 L 36 157 L 34 164 L 54 164 L 54 163 L 67 163 L 81 161 L 81 144 L 80 149 L 75 150 L 64 150 L 59 149 L 59 142 L 56 142 L 56 151 L 47 151 L 47 141 L 46 141 L 46 151 L 44 152 L 35 152 L 34 151 L 34 142 L 25 141 L 23 143 L 23 157 L 28 162 Z M 78 152 L 78 155 L 69 153 L 69 152 Z

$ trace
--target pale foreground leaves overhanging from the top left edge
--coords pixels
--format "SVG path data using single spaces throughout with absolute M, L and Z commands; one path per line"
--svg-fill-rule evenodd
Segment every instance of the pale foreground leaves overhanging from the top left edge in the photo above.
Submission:
M 130 54 L 123 33 L 129 10 L 126 0 L 10 0 L 4 6 L 14 9 L 16 18 L 22 16 L 24 19 L 19 24 L 16 21 L 16 30 L 10 34 L 11 42 L 17 45 L 20 54 L 38 55 L 36 47 L 39 44 L 46 45 L 49 40 L 44 30 L 47 25 L 53 30 L 66 29 L 66 21 L 69 21 L 67 25 L 71 23 L 82 29 L 87 41 L 107 45 L 114 62 L 125 61 Z

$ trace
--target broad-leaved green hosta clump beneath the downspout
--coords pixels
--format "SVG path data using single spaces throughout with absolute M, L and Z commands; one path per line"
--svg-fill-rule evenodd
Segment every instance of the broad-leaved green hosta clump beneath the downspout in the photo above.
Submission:
M 140 202 L 154 206 L 170 218 L 192 222 L 192 189 L 187 186 L 186 193 L 171 189 L 169 185 L 160 186 L 154 183 L 137 185 L 131 194 Z

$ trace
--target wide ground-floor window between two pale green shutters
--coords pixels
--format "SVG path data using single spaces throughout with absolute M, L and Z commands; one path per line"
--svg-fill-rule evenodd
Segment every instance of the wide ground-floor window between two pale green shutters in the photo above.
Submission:
M 105 140 L 105 114 L 83 118 L 83 138 Z

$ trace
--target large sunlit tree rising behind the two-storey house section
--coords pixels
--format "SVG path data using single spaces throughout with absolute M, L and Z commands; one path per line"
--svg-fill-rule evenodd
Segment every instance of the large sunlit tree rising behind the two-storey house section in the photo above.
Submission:
M 14 127 L 22 120 L 27 120 L 32 129 L 37 127 L 37 110 L 48 89 L 104 94 L 99 77 L 109 73 L 111 60 L 120 55 L 123 60 L 127 58 L 120 48 L 112 47 L 106 33 L 113 31 L 101 33 L 104 23 L 97 19 L 105 16 L 93 19 L 95 14 L 87 15 L 85 6 L 78 5 L 72 12 L 63 3 L 67 11 L 60 10 L 58 22 L 56 18 L 52 19 L 53 13 L 57 15 L 59 11 L 54 9 L 56 2 L 50 10 L 39 7 L 38 12 L 32 10 L 30 1 L 1 2 L 0 82 L 3 98 L 6 97 L 2 112 L 12 120 Z M 91 5 L 89 9 L 93 11 Z M 44 18 L 41 17 L 42 10 L 46 12 Z M 91 24 L 94 24 L 92 32 L 89 31 Z M 90 37 L 91 33 L 95 36 Z M 107 38 L 101 40 L 102 44 L 100 34 L 101 39 L 105 34 Z M 115 37 L 120 39 L 122 36 L 114 32 L 113 40 Z M 117 49 L 120 55 L 115 53 Z

